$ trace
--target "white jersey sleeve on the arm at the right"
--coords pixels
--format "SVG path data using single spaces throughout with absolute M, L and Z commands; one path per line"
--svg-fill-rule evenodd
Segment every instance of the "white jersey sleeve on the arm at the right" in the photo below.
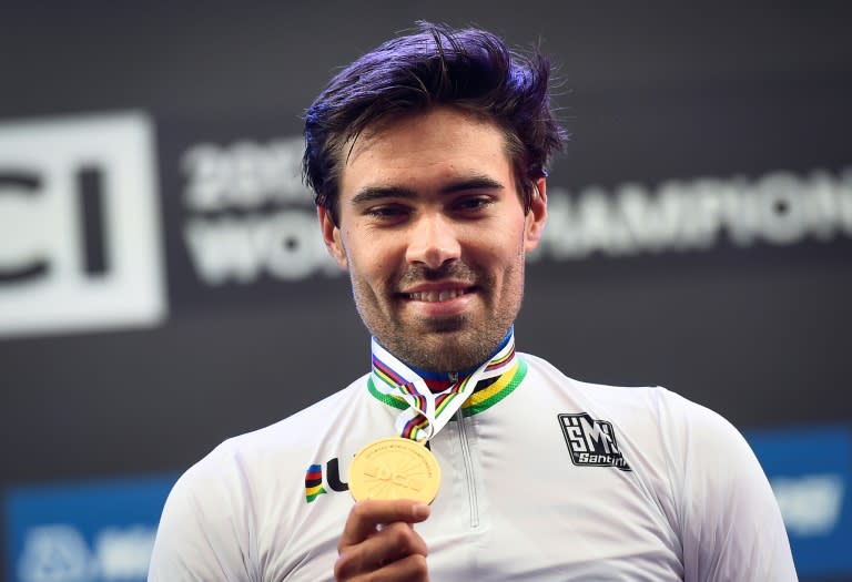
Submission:
M 674 398 L 686 582 L 798 580 L 781 511 L 746 439 L 716 412 Z

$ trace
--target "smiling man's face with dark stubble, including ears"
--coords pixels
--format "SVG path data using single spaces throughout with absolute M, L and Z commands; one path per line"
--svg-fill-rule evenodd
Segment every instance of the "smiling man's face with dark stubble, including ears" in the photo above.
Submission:
M 344 155 L 347 147 L 344 149 Z M 503 132 L 449 108 L 367 127 L 320 219 L 355 304 L 403 361 L 457 371 L 496 349 L 520 309 L 524 263 L 546 217 L 525 215 Z

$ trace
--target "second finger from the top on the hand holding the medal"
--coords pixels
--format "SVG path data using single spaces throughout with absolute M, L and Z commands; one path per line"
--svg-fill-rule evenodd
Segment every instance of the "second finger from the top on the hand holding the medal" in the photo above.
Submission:
M 335 563 L 334 573 L 338 580 L 348 580 L 359 574 L 377 572 L 412 555 L 420 555 L 425 561 L 427 553 L 426 542 L 412 525 L 397 521 L 367 540 L 346 548 Z

